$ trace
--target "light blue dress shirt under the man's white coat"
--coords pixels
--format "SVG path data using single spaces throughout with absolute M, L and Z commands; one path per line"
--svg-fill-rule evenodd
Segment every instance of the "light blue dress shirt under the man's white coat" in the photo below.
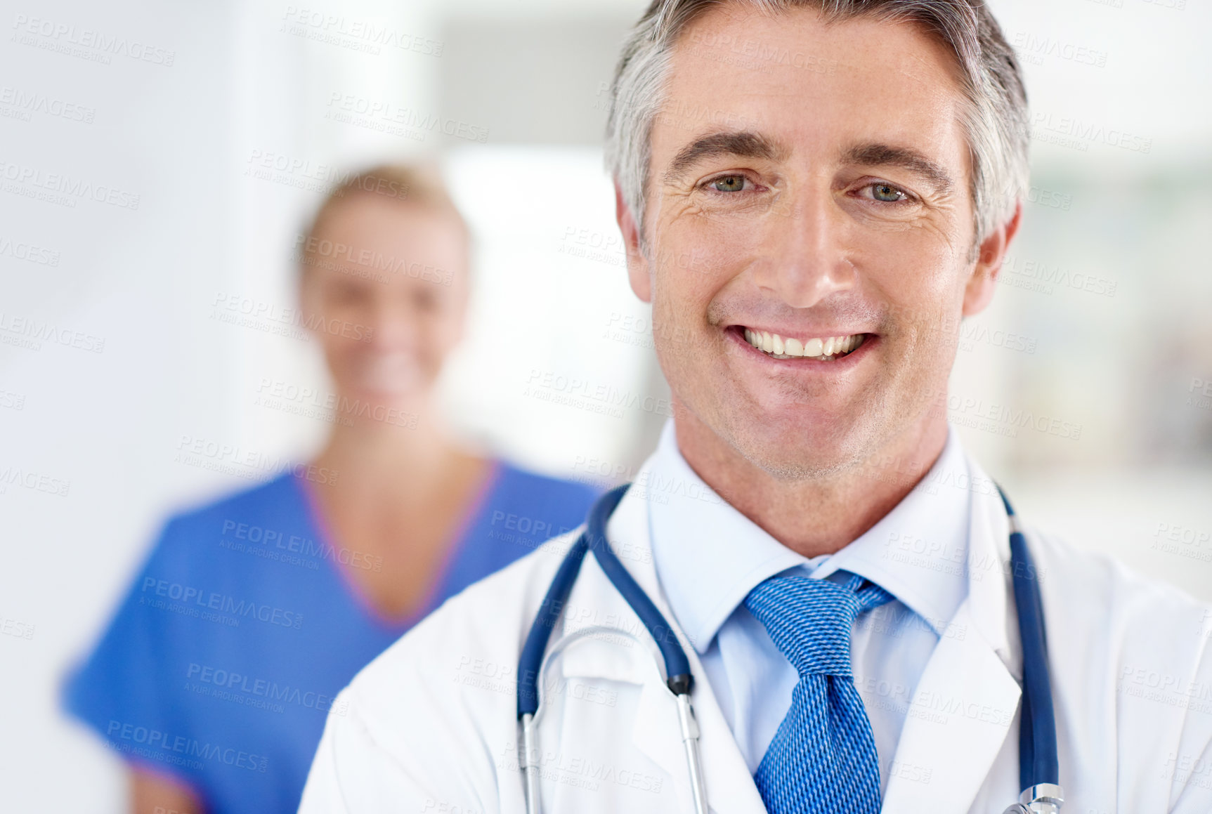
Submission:
M 933 487 L 939 472 L 967 472 L 954 430 L 930 474 L 892 511 L 841 551 L 808 560 L 719 498 L 682 458 L 673 422 L 665 425 L 648 477 L 638 485 L 648 498 L 657 577 L 750 772 L 790 709 L 799 676 L 744 598 L 783 572 L 819 579 L 848 572 L 896 597 L 856 619 L 851 648 L 880 757 L 881 792 L 887 787 L 926 661 L 941 637 L 967 632 L 949 623 L 968 594 L 970 495 Z

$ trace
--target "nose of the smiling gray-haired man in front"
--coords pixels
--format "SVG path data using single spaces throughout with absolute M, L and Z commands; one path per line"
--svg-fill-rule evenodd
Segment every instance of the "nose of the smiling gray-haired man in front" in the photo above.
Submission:
M 845 213 L 828 190 L 776 202 L 764 242 L 756 282 L 791 308 L 812 308 L 857 281 L 846 246 Z

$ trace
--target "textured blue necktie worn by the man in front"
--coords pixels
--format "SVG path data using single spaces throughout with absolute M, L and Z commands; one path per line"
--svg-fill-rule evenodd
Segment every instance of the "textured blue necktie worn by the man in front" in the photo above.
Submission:
M 754 783 L 770 814 L 880 810 L 880 762 L 863 699 L 854 689 L 854 618 L 892 600 L 862 577 L 845 584 L 772 577 L 745 607 L 800 673 L 791 709 L 758 764 Z

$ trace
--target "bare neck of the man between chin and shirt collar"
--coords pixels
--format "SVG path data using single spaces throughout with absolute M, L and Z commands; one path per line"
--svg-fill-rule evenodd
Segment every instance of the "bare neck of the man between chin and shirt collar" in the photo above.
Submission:
M 744 458 L 685 408 L 678 411 L 675 430 L 686 463 L 716 494 L 806 557 L 840 551 L 875 526 L 947 445 L 947 422 L 927 419 L 841 472 L 784 480 Z

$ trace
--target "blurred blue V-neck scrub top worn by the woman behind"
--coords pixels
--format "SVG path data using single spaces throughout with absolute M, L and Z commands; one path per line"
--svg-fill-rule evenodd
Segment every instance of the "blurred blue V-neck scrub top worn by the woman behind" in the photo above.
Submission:
M 295 475 L 168 521 L 65 705 L 208 812 L 298 809 L 333 698 L 447 597 L 579 526 L 595 491 L 498 464 L 422 612 L 378 615 Z

